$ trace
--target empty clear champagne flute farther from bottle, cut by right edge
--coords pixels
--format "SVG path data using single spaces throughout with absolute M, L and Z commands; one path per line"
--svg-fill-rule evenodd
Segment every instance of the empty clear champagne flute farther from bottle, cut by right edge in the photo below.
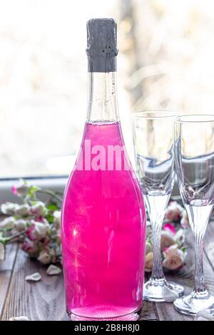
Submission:
M 178 186 L 195 241 L 195 286 L 191 294 L 176 299 L 174 307 L 194 315 L 200 309 L 214 311 L 214 297 L 203 276 L 203 237 L 214 203 L 214 115 L 179 116 L 175 128 Z

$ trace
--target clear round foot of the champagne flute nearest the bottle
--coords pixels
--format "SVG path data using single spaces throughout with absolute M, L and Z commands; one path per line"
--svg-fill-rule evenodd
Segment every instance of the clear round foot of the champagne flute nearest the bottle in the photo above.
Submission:
M 143 299 L 173 302 L 183 295 L 183 287 L 165 279 L 149 279 L 143 287 Z

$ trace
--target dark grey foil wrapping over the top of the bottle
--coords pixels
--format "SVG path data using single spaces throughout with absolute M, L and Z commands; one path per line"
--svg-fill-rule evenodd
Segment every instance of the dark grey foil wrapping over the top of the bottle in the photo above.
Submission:
M 117 24 L 114 19 L 87 22 L 88 72 L 116 71 Z

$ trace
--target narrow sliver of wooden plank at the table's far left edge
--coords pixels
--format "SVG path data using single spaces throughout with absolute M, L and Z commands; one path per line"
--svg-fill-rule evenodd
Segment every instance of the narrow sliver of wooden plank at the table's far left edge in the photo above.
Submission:
M 9 291 L 11 275 L 14 269 L 18 245 L 11 243 L 6 246 L 6 255 L 4 260 L 0 260 L 0 319 L 3 313 L 4 304 Z

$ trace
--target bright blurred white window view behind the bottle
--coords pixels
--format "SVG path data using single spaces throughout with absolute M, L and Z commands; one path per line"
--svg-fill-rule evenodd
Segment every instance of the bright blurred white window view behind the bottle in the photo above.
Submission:
M 97 16 L 118 21 L 131 156 L 133 111 L 214 113 L 214 1 L 0 0 L 0 178 L 73 168 L 86 118 L 86 21 Z

